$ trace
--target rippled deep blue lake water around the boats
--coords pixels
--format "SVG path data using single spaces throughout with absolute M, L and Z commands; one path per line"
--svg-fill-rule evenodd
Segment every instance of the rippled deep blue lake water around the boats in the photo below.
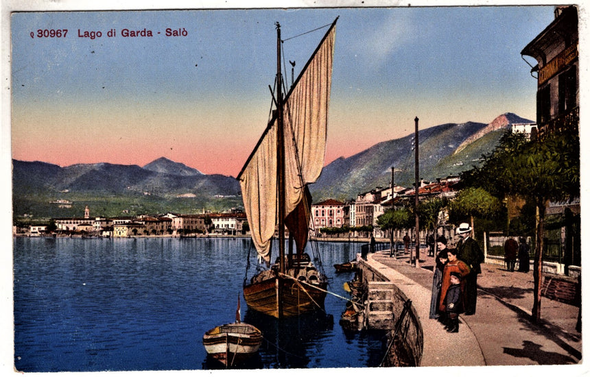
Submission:
M 249 239 L 14 239 L 14 367 L 22 372 L 215 369 L 202 336 L 242 320 L 265 341 L 248 368 L 371 367 L 384 332 L 346 332 L 345 301 L 326 313 L 276 321 L 246 308 L 241 293 Z M 318 243 L 329 291 L 359 243 Z M 275 249 L 276 250 L 276 249 Z M 248 278 L 252 274 L 252 268 Z

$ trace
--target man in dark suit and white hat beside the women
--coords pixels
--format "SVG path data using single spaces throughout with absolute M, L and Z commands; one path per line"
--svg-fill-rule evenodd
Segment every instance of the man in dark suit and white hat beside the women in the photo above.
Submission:
M 474 315 L 477 304 L 477 275 L 482 273 L 480 265 L 484 262 L 484 253 L 471 237 L 471 226 L 468 223 L 461 223 L 456 233 L 461 238 L 457 244 L 458 258 L 470 269 L 469 275 L 464 279 L 465 315 Z

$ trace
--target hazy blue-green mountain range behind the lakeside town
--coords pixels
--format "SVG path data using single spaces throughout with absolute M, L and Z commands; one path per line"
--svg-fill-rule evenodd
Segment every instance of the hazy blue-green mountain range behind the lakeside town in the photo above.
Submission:
M 513 123 L 533 123 L 516 114 L 502 114 L 491 123 L 446 123 L 418 133 L 420 177 L 425 180 L 458 174 L 477 164 L 497 145 Z M 324 167 L 310 185 L 314 202 L 348 200 L 377 186 L 414 182 L 413 134 L 373 145 Z M 60 167 L 47 162 L 12 160 L 13 212 L 34 218 L 80 216 L 84 206 L 95 215 L 197 212 L 241 207 L 239 182 L 226 175 L 201 173 L 180 162 L 158 158 L 149 164 L 78 164 Z M 49 202 L 62 200 L 71 206 Z M 100 213 L 98 213 L 100 212 Z

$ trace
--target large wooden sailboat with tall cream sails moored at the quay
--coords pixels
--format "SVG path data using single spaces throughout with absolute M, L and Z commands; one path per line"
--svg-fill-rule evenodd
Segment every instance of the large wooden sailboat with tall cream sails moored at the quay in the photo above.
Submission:
M 270 265 L 275 232 L 279 240 L 275 263 L 244 282 L 244 298 L 249 308 L 276 318 L 321 311 L 327 295 L 326 276 L 305 253 L 311 215 L 307 184 L 319 178 L 324 163 L 336 21 L 284 96 L 276 23 L 275 108 L 237 176 L 259 260 Z

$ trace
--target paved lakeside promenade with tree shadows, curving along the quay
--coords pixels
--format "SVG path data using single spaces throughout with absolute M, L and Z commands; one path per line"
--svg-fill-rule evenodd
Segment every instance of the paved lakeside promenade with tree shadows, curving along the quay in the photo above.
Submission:
M 396 282 L 412 300 L 425 333 L 423 366 L 578 364 L 582 368 L 576 306 L 543 297 L 541 322 L 530 321 L 532 271 L 509 272 L 501 265 L 482 265 L 477 311 L 460 316 L 458 334 L 449 334 L 442 324 L 428 318 L 434 258 L 421 256 L 421 268 L 416 269 L 409 265 L 407 255 L 396 259 L 389 252 L 377 252 L 369 254 L 367 263 Z

